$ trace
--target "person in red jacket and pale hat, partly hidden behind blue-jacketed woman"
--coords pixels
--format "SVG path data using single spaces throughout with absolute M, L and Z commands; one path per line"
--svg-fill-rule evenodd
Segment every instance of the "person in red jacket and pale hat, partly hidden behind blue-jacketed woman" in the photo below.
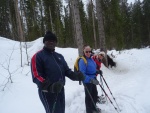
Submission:
M 93 60 L 95 61 L 96 63 L 96 69 L 98 71 L 99 74 L 102 74 L 102 71 L 100 70 L 101 68 L 101 64 L 102 64 L 102 59 L 105 57 L 105 52 L 99 52 L 98 54 L 95 54 L 93 55 Z M 98 75 L 98 74 L 97 74 Z M 97 91 L 97 88 L 96 88 L 96 94 L 95 96 L 97 97 L 97 102 L 98 103 L 101 103 L 101 97 L 98 96 L 98 91 Z

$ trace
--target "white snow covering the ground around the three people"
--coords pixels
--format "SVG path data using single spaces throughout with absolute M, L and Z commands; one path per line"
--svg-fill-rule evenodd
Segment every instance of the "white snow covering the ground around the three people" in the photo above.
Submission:
M 45 113 L 39 99 L 37 86 L 32 82 L 30 66 L 27 65 L 25 44 L 23 47 L 23 66 L 21 67 L 20 43 L 0 37 L 0 113 Z M 27 42 L 28 55 L 43 47 L 42 37 Z M 64 55 L 69 67 L 73 69 L 78 56 L 75 48 L 58 48 Z M 116 68 L 102 65 L 104 78 L 121 109 L 120 113 L 150 113 L 150 48 L 108 51 L 115 56 Z M 12 83 L 8 77 L 11 74 Z M 99 76 L 98 76 L 99 80 Z M 102 94 L 97 86 L 99 95 Z M 106 93 L 117 107 L 108 88 Z M 66 113 L 85 113 L 85 94 L 83 85 L 66 78 Z M 113 105 L 98 104 L 103 113 L 117 113 Z M 117 109 L 119 109 L 117 107 Z

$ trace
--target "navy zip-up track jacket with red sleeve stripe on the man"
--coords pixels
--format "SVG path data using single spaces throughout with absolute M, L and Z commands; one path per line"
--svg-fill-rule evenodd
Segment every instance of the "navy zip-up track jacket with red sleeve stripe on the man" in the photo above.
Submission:
M 51 83 L 62 80 L 65 82 L 65 76 L 72 80 L 76 80 L 76 75 L 68 67 L 64 57 L 47 48 L 34 54 L 31 59 L 31 72 L 33 82 L 41 86 L 44 80 L 49 80 Z

